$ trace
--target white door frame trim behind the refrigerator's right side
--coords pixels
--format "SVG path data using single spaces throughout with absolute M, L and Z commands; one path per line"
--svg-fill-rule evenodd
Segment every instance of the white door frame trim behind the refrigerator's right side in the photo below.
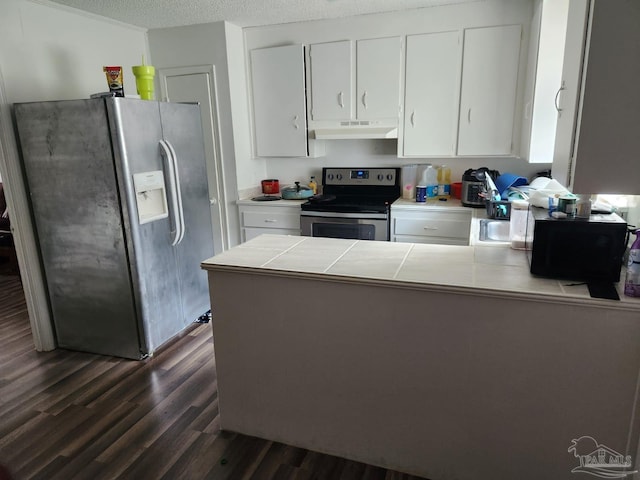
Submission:
M 222 132 L 220 130 L 220 112 L 218 109 L 218 88 L 216 83 L 216 67 L 215 65 L 193 65 L 188 67 L 170 67 L 159 68 L 158 79 L 160 82 L 160 96 L 164 102 L 170 101 L 168 95 L 167 78 L 178 77 L 187 75 L 206 75 L 209 86 L 209 100 L 210 108 L 207 108 L 206 115 L 211 122 L 211 138 L 213 139 L 213 145 L 211 152 L 213 158 L 207 158 L 207 171 L 213 171 L 215 178 L 213 179 L 216 192 L 209 191 L 209 203 L 210 206 L 215 206 L 219 219 L 215 218 L 215 215 L 211 216 L 211 222 L 213 225 L 216 223 L 219 225 L 221 232 L 220 238 L 216 238 L 216 228 L 214 226 L 214 251 L 216 254 L 229 249 L 231 245 L 231 237 L 229 232 L 229 211 L 227 209 L 227 185 L 225 181 L 224 172 L 224 159 L 222 157 L 222 147 L 220 144 L 220 138 Z M 202 107 L 202 104 L 201 104 Z M 201 108 L 202 111 L 202 108 Z M 203 112 L 205 113 L 205 112 Z M 203 128 L 205 125 L 203 125 Z M 205 149 L 206 152 L 206 149 Z M 206 153 L 205 153 L 206 154 Z M 209 156 L 208 156 L 209 157 Z M 209 179 L 209 182 L 212 179 Z M 217 196 L 215 195 L 217 193 Z M 217 246 L 219 245 L 220 248 Z

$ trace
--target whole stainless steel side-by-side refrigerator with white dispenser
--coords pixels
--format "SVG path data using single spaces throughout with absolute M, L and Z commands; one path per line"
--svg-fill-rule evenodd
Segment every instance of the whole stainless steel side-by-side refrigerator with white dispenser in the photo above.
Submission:
M 140 359 L 209 309 L 199 106 L 15 104 L 58 346 Z

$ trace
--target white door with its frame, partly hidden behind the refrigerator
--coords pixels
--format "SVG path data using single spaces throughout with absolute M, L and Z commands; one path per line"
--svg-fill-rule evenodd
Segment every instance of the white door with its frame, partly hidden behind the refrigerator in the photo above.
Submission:
M 229 248 L 224 176 L 220 157 L 215 67 L 213 65 L 164 68 L 158 71 L 164 101 L 200 104 L 204 151 L 207 161 L 209 203 L 214 253 Z

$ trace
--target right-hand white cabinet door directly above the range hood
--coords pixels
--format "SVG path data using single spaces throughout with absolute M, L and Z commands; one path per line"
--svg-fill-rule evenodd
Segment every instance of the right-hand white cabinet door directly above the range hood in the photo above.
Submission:
M 398 118 L 400 113 L 400 37 L 359 40 L 357 58 L 358 120 Z

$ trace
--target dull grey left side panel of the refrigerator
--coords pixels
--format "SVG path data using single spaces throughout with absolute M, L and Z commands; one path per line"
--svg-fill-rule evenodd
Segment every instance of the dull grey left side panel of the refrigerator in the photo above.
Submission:
M 140 358 L 104 101 L 16 104 L 15 116 L 58 345 Z

